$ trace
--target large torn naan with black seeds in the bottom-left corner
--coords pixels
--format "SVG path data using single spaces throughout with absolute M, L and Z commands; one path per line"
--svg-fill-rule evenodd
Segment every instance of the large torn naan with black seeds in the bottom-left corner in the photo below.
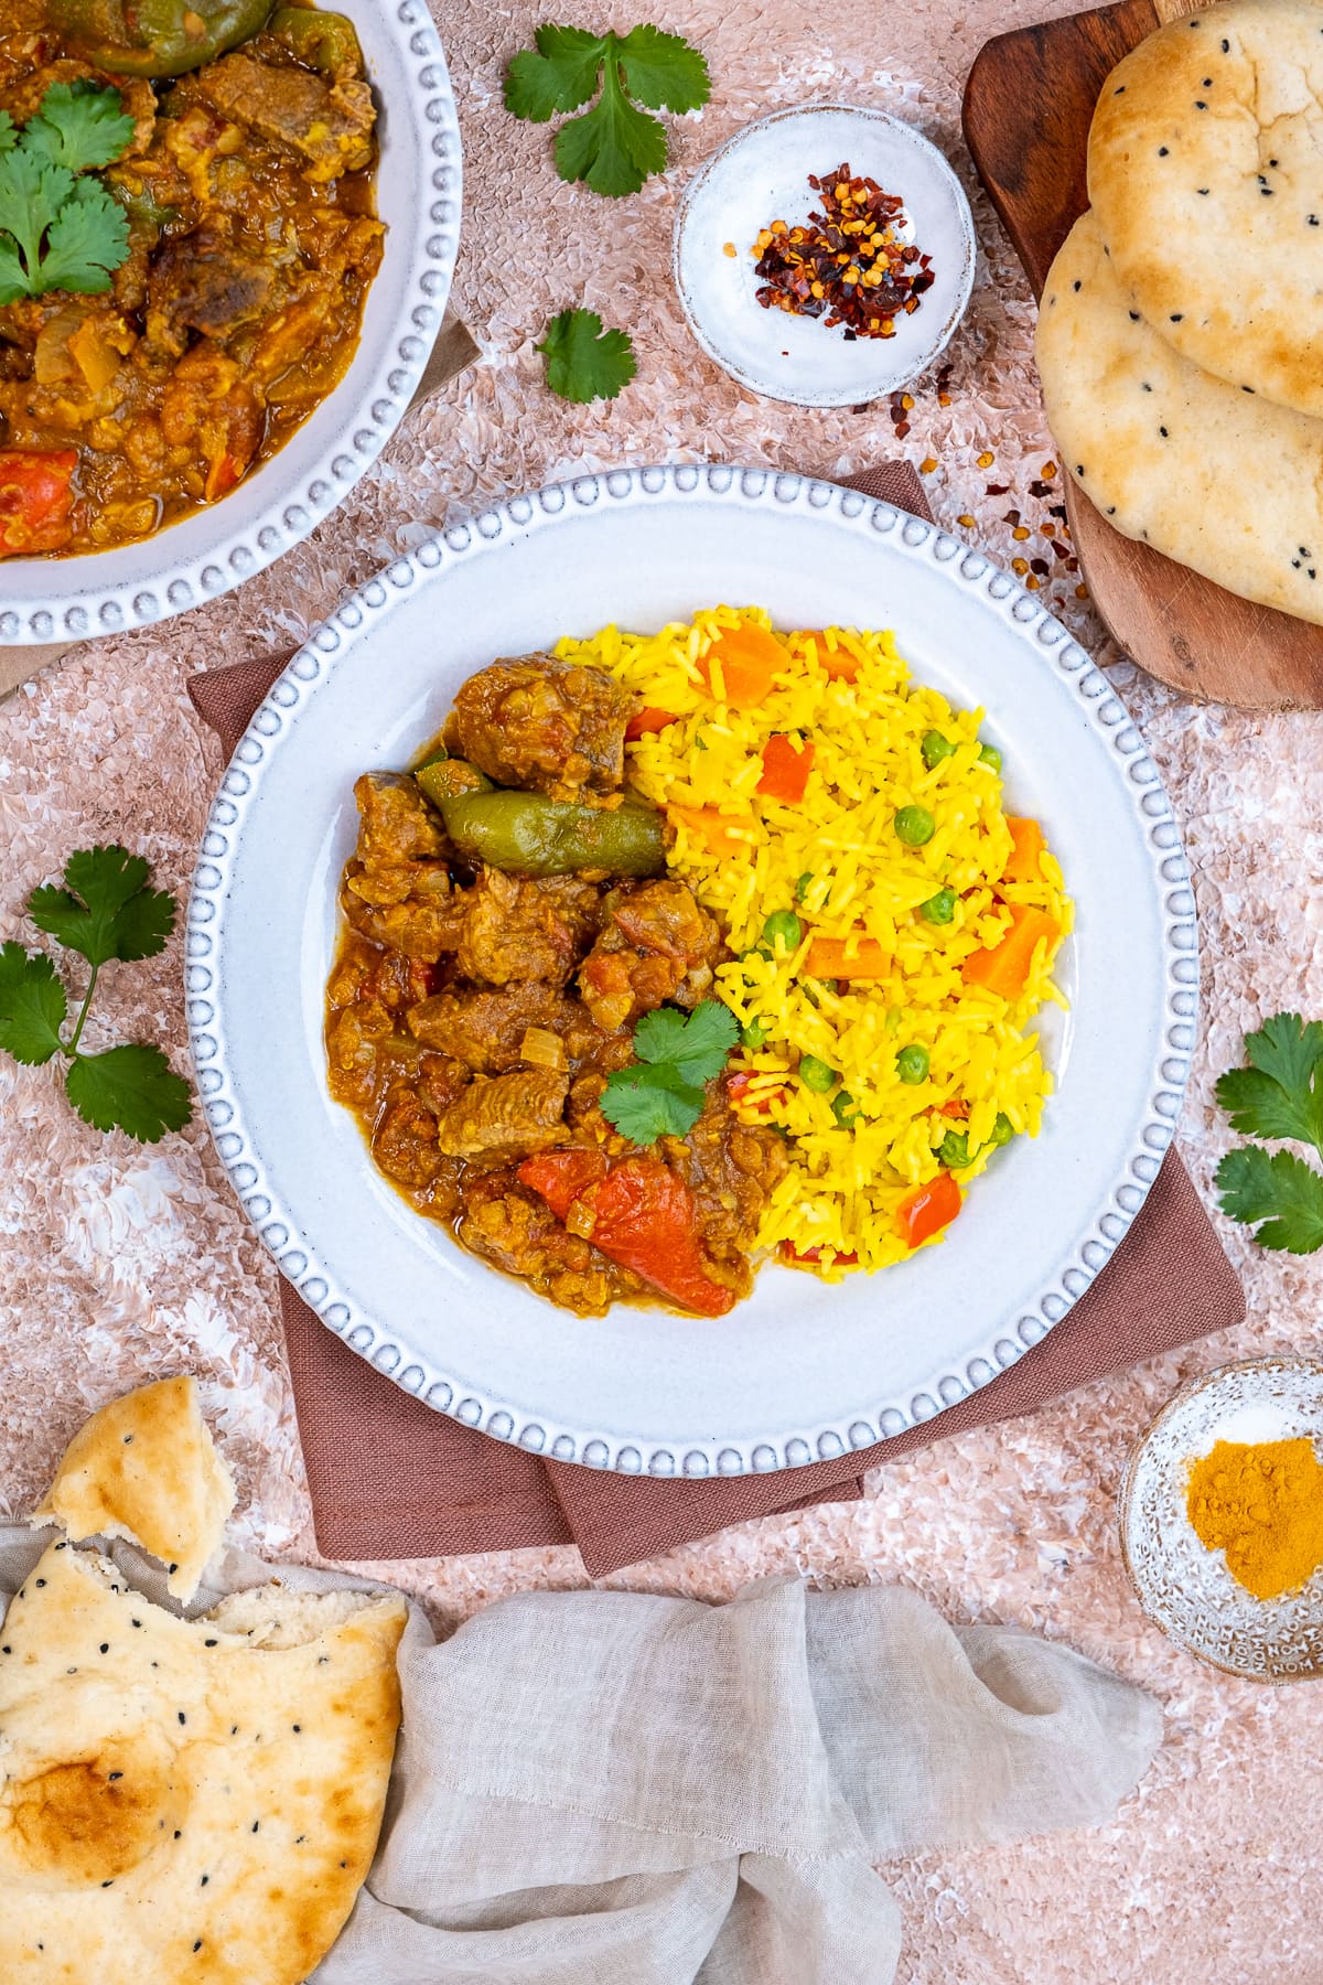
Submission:
M 387 1796 L 405 1602 L 177 1620 L 52 1544 L 0 1628 L 4 1985 L 300 1985 Z

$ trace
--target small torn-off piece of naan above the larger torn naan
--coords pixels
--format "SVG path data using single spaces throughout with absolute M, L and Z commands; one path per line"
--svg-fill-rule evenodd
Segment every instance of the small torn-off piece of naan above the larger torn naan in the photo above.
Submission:
M 58 1522 L 75 1540 L 141 1544 L 186 1606 L 232 1509 L 234 1483 L 212 1447 L 196 1380 L 165 1378 L 91 1415 L 32 1522 Z

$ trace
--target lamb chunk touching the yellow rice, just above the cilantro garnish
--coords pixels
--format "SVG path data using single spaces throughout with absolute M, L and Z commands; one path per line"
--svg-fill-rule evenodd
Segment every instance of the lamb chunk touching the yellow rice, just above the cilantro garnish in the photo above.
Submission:
M 682 881 L 621 885 L 603 899 L 605 925 L 579 971 L 579 992 L 607 1032 L 664 1000 L 696 1006 L 726 945 Z

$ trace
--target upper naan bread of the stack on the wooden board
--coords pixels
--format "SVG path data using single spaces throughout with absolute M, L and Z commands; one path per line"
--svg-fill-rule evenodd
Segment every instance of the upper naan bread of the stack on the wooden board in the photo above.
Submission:
M 1089 198 L 1154 331 L 1234 387 L 1323 415 L 1319 6 L 1230 0 L 1141 42 L 1093 113 Z

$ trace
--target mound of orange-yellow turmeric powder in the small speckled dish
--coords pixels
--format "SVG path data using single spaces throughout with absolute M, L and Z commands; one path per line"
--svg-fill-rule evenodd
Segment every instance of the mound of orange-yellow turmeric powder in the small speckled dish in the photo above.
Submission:
M 1323 1465 L 1307 1437 L 1218 1441 L 1190 1467 L 1186 1511 L 1256 1600 L 1297 1592 L 1323 1564 Z

